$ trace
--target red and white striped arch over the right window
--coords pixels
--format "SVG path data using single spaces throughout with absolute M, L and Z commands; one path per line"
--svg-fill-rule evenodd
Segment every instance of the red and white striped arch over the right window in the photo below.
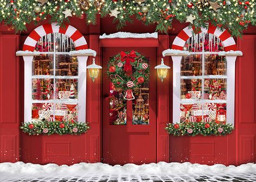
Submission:
M 172 49 L 182 51 L 186 41 L 192 37 L 193 32 L 193 27 L 189 29 L 188 26 L 185 29 L 181 30 L 178 36 L 173 41 Z M 237 50 L 235 40 L 233 39 L 233 37 L 231 37 L 231 34 L 227 30 L 221 31 L 216 26 L 209 24 L 207 29 L 201 28 L 201 30 L 196 33 L 201 32 L 211 33 L 214 34 L 214 36 L 218 37 L 222 41 L 225 51 Z

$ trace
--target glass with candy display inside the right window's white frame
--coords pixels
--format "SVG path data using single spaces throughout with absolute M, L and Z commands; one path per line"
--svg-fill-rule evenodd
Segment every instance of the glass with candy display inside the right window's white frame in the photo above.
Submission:
M 180 69 L 180 122 L 226 124 L 227 61 L 220 39 L 208 33 L 195 34 L 183 48 Z

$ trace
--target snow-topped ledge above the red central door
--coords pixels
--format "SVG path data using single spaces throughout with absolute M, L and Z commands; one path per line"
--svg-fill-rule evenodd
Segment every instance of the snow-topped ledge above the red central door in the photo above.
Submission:
M 157 32 L 154 33 L 130 33 L 130 32 L 117 32 L 107 35 L 104 33 L 102 36 L 100 36 L 100 39 L 114 39 L 114 38 L 154 38 L 157 39 L 158 34 Z

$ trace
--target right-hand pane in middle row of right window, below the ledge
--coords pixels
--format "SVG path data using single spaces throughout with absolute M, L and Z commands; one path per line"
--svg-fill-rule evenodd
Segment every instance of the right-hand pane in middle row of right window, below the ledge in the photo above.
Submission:
M 227 79 L 205 79 L 204 99 L 227 100 Z

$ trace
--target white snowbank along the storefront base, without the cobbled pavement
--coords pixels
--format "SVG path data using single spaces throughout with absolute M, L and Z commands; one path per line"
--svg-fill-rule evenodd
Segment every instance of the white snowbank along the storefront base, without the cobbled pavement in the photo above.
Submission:
M 111 166 L 102 163 L 80 163 L 71 166 L 57 164 L 31 164 L 31 163 L 0 163 L 0 176 L 2 174 L 19 174 L 32 176 L 84 176 L 90 174 L 104 175 L 104 174 L 188 174 L 188 173 L 204 173 L 204 174 L 218 174 L 218 173 L 256 173 L 256 164 L 248 163 L 240 166 L 225 166 L 222 164 L 215 164 L 212 166 L 191 164 L 191 163 L 165 163 L 159 162 L 157 164 L 126 164 Z

